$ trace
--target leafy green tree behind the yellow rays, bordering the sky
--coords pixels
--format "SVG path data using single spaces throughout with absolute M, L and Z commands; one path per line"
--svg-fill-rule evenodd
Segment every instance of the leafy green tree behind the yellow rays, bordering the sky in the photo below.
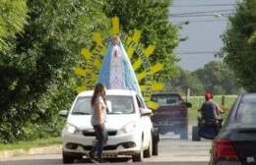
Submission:
M 176 62 L 179 60 L 173 55 L 173 49 L 179 42 L 178 29 L 169 22 L 170 0 L 106 0 L 105 14 L 109 17 L 117 16 L 120 20 L 120 29 L 132 35 L 135 29 L 142 31 L 140 44 L 144 47 L 155 45 L 154 54 L 150 57 L 151 63 L 164 65 L 163 71 L 156 77 L 165 82 L 173 78 L 178 72 Z M 165 80 L 164 80 L 165 79 Z

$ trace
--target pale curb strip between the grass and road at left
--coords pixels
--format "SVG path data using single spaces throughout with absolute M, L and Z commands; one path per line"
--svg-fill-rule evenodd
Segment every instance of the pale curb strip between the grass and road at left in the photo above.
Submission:
M 58 154 L 62 152 L 62 145 L 51 145 L 44 147 L 31 148 L 30 150 L 25 149 L 14 149 L 0 151 L 0 159 L 13 157 L 13 156 L 24 156 L 24 155 L 39 155 L 39 154 Z

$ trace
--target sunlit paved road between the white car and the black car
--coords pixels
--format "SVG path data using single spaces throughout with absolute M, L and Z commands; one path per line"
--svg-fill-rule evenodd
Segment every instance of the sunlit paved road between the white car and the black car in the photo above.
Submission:
M 192 126 L 190 126 L 189 139 L 179 139 L 179 136 L 172 134 L 160 136 L 159 156 L 153 156 L 145 161 L 208 164 L 212 140 L 192 141 L 191 128 Z

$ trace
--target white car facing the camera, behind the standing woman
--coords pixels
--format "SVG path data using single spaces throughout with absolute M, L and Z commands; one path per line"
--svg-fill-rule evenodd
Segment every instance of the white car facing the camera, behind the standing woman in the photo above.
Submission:
M 62 130 L 63 163 L 74 163 L 74 159 L 88 156 L 96 139 L 91 125 L 91 97 L 94 91 L 81 92 L 70 111 L 59 115 L 67 118 Z M 159 133 L 153 127 L 143 99 L 132 90 L 106 90 L 108 106 L 106 129 L 108 141 L 103 148 L 103 157 L 130 155 L 133 161 L 158 155 Z

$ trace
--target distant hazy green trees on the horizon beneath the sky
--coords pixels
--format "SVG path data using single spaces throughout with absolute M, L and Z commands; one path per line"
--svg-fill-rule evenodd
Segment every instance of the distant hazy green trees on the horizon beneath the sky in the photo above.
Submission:
M 168 90 L 182 95 L 190 88 L 190 95 L 202 95 L 206 91 L 213 94 L 238 94 L 232 72 L 222 62 L 212 61 L 194 72 L 180 69 L 180 76 L 173 79 Z

